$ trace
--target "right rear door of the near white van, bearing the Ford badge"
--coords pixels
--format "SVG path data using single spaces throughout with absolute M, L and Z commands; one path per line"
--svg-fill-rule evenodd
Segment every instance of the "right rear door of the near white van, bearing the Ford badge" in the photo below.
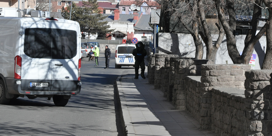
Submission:
M 76 24 L 52 23 L 51 91 L 75 91 L 80 58 L 79 30 Z M 75 31 L 77 30 L 77 31 Z

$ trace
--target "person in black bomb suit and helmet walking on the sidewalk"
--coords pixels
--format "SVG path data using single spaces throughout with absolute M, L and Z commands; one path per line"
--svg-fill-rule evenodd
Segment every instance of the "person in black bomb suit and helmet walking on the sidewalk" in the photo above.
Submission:
M 138 79 L 139 76 L 139 67 L 141 67 L 141 77 L 143 79 L 146 79 L 146 77 L 144 76 L 144 71 L 146 69 L 145 64 L 144 64 L 144 57 L 147 55 L 147 50 L 144 49 L 145 45 L 139 41 L 136 45 L 136 48 L 133 49 L 132 55 L 135 56 L 135 63 L 134 63 L 134 67 L 135 67 L 135 78 L 134 79 Z

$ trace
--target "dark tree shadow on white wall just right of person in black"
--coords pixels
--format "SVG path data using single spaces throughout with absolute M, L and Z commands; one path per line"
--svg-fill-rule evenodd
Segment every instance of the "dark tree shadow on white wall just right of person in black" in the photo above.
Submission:
M 181 53 L 180 49 L 179 49 L 179 37 L 176 33 L 170 33 L 171 39 L 172 39 L 172 44 L 168 45 L 170 46 L 170 51 L 165 50 L 163 48 L 159 47 L 159 51 L 166 53 L 166 54 L 176 54 L 179 55 L 180 57 L 184 57 L 185 55 L 187 55 L 189 52 L 187 53 Z

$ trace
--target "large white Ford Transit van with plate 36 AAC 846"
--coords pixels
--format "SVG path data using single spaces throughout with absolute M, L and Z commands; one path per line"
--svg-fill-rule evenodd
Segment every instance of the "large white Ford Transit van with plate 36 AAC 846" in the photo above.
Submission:
M 65 106 L 81 89 L 80 38 L 75 21 L 0 18 L 0 104 L 27 96 Z

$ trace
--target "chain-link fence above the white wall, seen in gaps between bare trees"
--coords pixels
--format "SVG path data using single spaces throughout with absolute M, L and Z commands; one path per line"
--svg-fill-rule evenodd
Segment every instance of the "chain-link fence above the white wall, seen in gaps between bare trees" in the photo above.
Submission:
M 249 26 L 249 23 L 252 20 L 253 15 L 253 3 L 244 3 L 241 4 L 238 2 L 239 0 L 235 1 L 234 3 L 234 9 L 236 12 L 236 35 L 241 34 L 247 34 L 248 28 L 242 28 L 240 26 Z M 263 6 L 265 7 L 265 6 Z M 166 9 L 167 10 L 167 9 Z M 228 18 L 227 13 L 226 17 Z M 266 8 L 262 9 L 261 17 L 268 19 L 268 11 Z M 182 18 L 181 19 L 185 19 Z M 217 17 L 217 11 L 216 9 L 213 9 L 212 11 L 206 12 L 206 22 L 210 29 L 211 34 L 219 34 L 219 28 L 218 25 L 218 17 Z M 188 28 L 192 28 L 192 23 L 188 21 L 187 26 Z M 265 22 L 259 21 L 258 28 L 261 29 Z M 163 27 L 164 32 L 176 32 L 176 33 L 189 33 L 189 31 L 185 28 L 185 26 L 181 23 L 181 21 L 178 19 L 178 17 L 171 15 L 169 11 L 164 11 L 162 9 L 161 11 L 161 19 L 160 19 L 160 26 Z

